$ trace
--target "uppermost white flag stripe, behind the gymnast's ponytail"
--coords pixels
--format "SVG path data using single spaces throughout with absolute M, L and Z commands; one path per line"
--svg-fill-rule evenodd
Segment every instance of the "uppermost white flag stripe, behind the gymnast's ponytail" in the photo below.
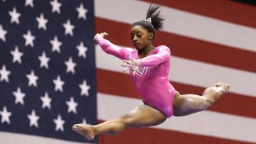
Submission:
M 97 17 L 122 23 L 143 20 L 148 8 L 149 3 L 144 1 L 95 0 Z M 166 17 L 163 31 L 256 52 L 256 28 L 166 6 L 161 7 L 161 15 Z

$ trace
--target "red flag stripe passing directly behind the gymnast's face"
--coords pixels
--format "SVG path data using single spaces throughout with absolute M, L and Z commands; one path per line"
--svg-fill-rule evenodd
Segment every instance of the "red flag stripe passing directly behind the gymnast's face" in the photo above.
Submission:
M 110 33 L 106 38 L 112 43 L 132 47 L 129 38 L 131 28 L 129 24 L 96 18 L 96 28 L 97 32 L 106 31 Z M 171 54 L 177 57 L 256 72 L 256 67 L 250 65 L 252 62 L 256 62 L 256 52 L 230 48 L 225 45 L 209 43 L 163 31 L 156 34 L 154 45 L 169 46 Z

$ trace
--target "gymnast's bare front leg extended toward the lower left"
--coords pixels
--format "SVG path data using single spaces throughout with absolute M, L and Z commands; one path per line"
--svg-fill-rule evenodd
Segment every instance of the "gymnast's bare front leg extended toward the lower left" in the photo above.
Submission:
M 163 123 L 165 120 L 166 116 L 164 113 L 161 113 L 161 111 L 158 111 L 148 105 L 142 105 L 135 107 L 132 111 L 129 111 L 129 113 L 120 118 L 105 121 L 104 123 L 100 123 L 95 126 L 75 124 L 73 126 L 73 131 L 77 131 L 81 135 L 84 135 L 85 138 L 92 140 L 95 135 L 116 134 L 129 126 L 156 126 Z

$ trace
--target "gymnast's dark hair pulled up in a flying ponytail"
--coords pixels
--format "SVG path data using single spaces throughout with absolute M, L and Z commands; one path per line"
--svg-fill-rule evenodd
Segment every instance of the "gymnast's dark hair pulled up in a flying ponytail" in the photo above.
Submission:
M 164 23 L 162 23 L 162 21 L 164 21 L 164 18 L 159 15 L 160 11 L 157 11 L 159 10 L 159 8 L 160 6 L 154 6 L 153 4 L 150 4 L 149 9 L 146 12 L 146 19 L 151 18 L 151 23 L 145 20 L 137 21 L 132 24 L 132 27 L 142 26 L 147 31 L 149 31 L 149 33 L 154 33 L 155 35 L 155 30 L 159 31 L 161 28 L 163 28 L 164 25 Z

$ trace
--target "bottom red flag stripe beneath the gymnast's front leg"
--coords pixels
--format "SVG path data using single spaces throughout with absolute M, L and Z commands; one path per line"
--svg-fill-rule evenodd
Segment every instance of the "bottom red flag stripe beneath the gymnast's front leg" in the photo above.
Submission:
M 102 121 L 99 121 L 102 122 Z M 178 131 L 167 131 L 156 128 L 127 128 L 117 135 L 100 135 L 99 144 L 170 144 L 170 143 L 228 143 L 228 144 L 249 144 L 236 140 L 215 138 L 204 135 L 181 133 Z

